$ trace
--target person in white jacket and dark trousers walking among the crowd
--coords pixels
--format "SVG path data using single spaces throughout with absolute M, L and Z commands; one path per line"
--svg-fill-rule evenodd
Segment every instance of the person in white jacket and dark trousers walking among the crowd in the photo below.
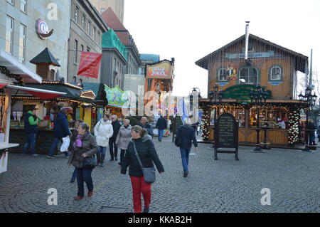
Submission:
M 109 145 L 109 139 L 113 134 L 113 127 L 111 125 L 110 115 L 104 115 L 103 118 L 97 122 L 94 128 L 95 139 L 97 140 L 97 165 L 103 167 L 105 162 L 105 150 Z

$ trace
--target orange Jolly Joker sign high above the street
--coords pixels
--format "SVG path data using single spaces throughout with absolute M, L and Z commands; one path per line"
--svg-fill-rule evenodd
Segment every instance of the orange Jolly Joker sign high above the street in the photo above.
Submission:
M 156 65 L 146 65 L 146 78 L 171 79 L 171 76 L 171 63 L 167 60 Z

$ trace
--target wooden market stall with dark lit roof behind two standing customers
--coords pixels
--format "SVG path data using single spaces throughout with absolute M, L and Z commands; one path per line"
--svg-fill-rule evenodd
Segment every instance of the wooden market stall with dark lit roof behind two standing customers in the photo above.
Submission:
M 60 97 L 50 95 L 37 95 L 28 93 L 27 90 L 17 90 L 12 95 L 11 105 L 11 143 L 21 144 L 12 149 L 13 152 L 22 152 L 26 134 L 24 133 L 24 115 L 31 107 L 36 107 L 36 115 L 41 118 L 38 123 L 36 138 L 36 151 L 38 154 L 48 154 L 53 143 L 53 124 L 56 115 L 62 107 L 68 107 L 68 122 L 70 130 L 73 130 L 75 120 L 86 120 L 87 106 L 95 105 L 90 95 L 82 93 L 82 88 L 63 81 L 43 80 L 41 84 L 27 83 L 28 88 L 38 90 L 40 88 L 62 93 Z M 85 96 L 87 95 L 87 96 Z M 91 113 L 91 110 L 89 111 Z M 90 119 L 90 117 L 88 117 Z M 91 122 L 91 119 L 90 119 Z M 88 122 L 89 123 L 89 122 Z M 57 150 L 58 152 L 58 150 Z

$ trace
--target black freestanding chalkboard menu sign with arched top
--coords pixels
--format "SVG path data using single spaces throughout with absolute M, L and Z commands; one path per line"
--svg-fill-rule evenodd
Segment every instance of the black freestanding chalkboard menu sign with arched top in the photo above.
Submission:
M 235 151 L 223 151 L 219 148 L 235 148 Z M 238 160 L 238 122 L 230 113 L 220 115 L 215 122 L 215 160 L 217 153 L 234 153 Z

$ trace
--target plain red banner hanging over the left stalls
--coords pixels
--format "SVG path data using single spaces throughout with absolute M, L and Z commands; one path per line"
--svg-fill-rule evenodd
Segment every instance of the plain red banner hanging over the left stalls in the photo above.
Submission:
M 78 75 L 98 78 L 100 73 L 102 53 L 81 52 Z

